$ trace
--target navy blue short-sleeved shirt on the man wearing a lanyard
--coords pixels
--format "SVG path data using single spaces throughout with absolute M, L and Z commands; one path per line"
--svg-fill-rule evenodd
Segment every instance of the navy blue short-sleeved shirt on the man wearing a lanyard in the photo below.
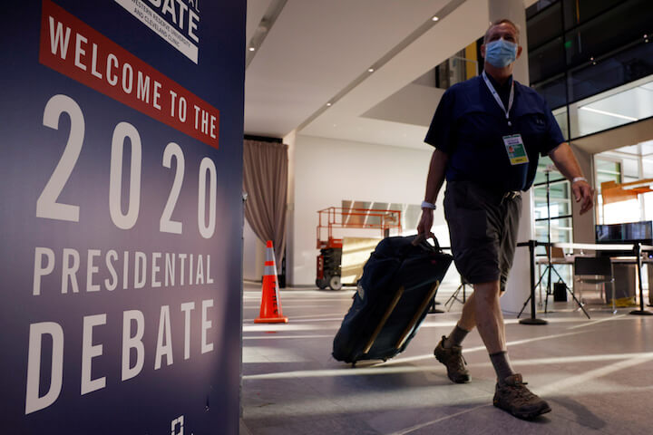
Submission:
M 507 107 L 510 87 L 493 85 Z M 481 76 L 444 92 L 424 141 L 449 155 L 447 181 L 470 180 L 502 192 L 531 188 L 539 156 L 564 138 L 541 95 L 516 81 L 509 115 L 512 126 Z M 502 138 L 516 133 L 521 134 L 528 163 L 512 165 L 508 157 Z

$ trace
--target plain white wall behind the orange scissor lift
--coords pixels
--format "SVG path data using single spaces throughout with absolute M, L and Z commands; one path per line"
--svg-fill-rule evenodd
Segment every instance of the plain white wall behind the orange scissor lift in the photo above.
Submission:
M 315 285 L 317 210 L 341 207 L 343 199 L 420 204 L 433 149 L 381 146 L 363 142 L 297 135 L 295 148 L 295 203 L 292 244 L 288 244 L 288 279 L 291 285 Z M 443 194 L 434 214 L 434 233 L 441 245 L 449 245 L 444 222 Z M 361 230 L 363 237 L 380 236 Z M 337 237 L 337 235 L 336 235 Z M 447 281 L 459 281 L 453 273 Z

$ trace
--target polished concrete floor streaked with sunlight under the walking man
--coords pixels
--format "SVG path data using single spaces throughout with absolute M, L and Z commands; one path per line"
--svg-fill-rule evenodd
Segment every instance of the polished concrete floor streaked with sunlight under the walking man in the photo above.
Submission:
M 437 300 L 452 290 L 442 288 Z M 282 290 L 289 323 L 259 325 L 260 285 L 245 283 L 241 434 L 653 433 L 653 316 L 622 308 L 588 320 L 564 303 L 539 314 L 549 321 L 543 326 L 507 316 L 512 365 L 553 409 L 522 421 L 492 406 L 494 372 L 477 332 L 463 343 L 471 383 L 449 382 L 434 360 L 461 304 L 429 314 L 393 360 L 356 368 L 335 361 L 333 337 L 352 295 Z

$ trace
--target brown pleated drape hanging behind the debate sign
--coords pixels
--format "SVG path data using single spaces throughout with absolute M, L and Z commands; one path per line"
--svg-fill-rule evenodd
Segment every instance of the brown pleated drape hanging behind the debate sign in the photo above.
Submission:
M 245 218 L 264 243 L 272 240 L 280 272 L 286 248 L 288 145 L 245 140 L 243 165 Z

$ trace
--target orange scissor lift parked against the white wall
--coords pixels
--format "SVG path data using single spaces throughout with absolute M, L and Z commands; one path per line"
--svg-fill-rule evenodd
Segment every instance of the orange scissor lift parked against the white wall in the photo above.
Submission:
M 320 250 L 317 287 L 340 290 L 343 286 L 340 281 L 343 239 L 334 237 L 334 229 L 380 229 L 383 237 L 388 237 L 391 229 L 401 232 L 401 213 L 401 210 L 339 207 L 317 211 L 317 249 Z

